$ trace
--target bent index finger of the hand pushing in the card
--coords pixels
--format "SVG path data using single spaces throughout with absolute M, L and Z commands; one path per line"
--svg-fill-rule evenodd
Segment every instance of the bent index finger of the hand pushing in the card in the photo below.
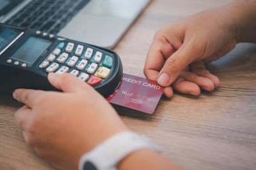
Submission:
M 157 80 L 159 72 L 164 65 L 164 60 L 169 58 L 173 52 L 175 52 L 175 48 L 168 42 L 167 38 L 156 34 L 148 50 L 144 67 L 144 73 L 147 79 Z

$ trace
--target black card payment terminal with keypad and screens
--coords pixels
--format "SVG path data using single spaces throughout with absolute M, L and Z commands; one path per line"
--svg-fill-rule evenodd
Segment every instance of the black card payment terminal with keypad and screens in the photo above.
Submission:
M 57 90 L 47 81 L 50 72 L 72 73 L 108 97 L 120 83 L 123 68 L 112 50 L 0 23 L 1 92 Z

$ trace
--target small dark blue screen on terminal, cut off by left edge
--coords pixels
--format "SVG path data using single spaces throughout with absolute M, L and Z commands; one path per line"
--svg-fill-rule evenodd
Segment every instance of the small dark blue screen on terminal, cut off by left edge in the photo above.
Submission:
M 0 52 L 9 45 L 20 32 L 9 27 L 0 27 Z

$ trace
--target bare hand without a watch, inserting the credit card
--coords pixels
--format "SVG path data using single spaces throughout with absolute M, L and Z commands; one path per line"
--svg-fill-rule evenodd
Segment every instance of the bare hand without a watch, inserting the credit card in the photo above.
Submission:
M 174 89 L 192 95 L 200 94 L 198 86 L 208 91 L 218 87 L 219 79 L 206 70 L 195 72 L 187 68 L 187 72 L 184 72 L 184 68 L 195 61 L 214 61 L 236 47 L 233 14 L 228 6 L 222 6 L 197 13 L 157 31 L 147 54 L 144 68 L 146 77 L 166 86 L 164 95 L 167 97 L 173 95 L 170 86 L 173 82 Z M 196 81 L 198 78 L 195 79 L 193 72 L 207 79 Z

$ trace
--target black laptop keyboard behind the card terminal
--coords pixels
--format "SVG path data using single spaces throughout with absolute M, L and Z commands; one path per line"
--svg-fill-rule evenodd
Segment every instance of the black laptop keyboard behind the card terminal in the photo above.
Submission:
M 90 0 L 33 0 L 6 23 L 58 33 Z

